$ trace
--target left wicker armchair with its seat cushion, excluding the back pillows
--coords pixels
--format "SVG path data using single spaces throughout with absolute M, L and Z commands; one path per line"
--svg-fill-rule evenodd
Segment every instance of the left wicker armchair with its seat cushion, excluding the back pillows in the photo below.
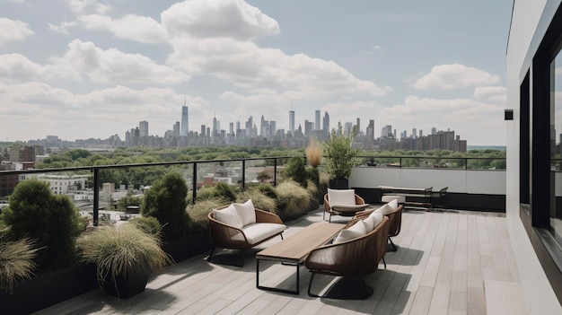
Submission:
M 267 211 L 254 209 L 256 215 L 255 223 L 243 226 L 233 226 L 215 219 L 215 211 L 221 211 L 229 206 L 215 209 L 208 214 L 209 232 L 215 248 L 211 250 L 207 261 L 211 261 L 215 249 L 241 249 L 241 266 L 244 265 L 244 250 L 268 241 L 277 235 L 283 239 L 283 231 L 286 226 L 277 216 Z

